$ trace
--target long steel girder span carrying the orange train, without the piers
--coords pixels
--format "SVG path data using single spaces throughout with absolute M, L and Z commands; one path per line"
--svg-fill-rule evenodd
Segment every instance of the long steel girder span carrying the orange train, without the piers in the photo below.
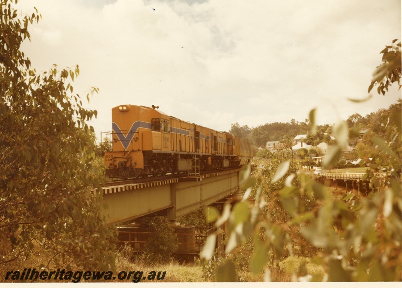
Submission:
M 174 220 L 240 190 L 240 169 L 102 188 L 109 224 L 157 213 Z M 99 192 L 99 191 L 96 191 Z

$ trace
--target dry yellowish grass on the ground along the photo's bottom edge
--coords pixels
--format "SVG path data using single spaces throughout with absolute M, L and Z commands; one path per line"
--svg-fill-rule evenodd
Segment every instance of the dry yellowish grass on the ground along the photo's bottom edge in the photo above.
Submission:
M 36 268 L 40 270 L 41 263 L 47 263 L 48 259 L 51 258 L 51 255 L 43 250 L 41 246 L 35 245 L 32 255 L 27 259 L 19 259 L 16 263 L 10 263 L 8 267 L 4 267 L 5 270 L 17 270 L 21 269 L 21 267 L 29 267 L 29 268 Z M 267 264 L 267 268 L 271 274 L 271 281 L 273 282 L 290 282 L 292 280 L 297 281 L 297 272 L 299 270 L 300 265 L 306 263 L 307 272 L 311 275 L 318 275 L 318 277 L 314 278 L 315 280 L 320 280 L 323 277 L 323 269 L 311 262 L 309 258 L 302 258 L 302 257 L 294 257 L 294 258 L 287 258 L 281 262 L 279 262 L 279 266 Z M 248 265 L 249 261 L 246 261 L 244 265 Z M 77 271 L 81 270 L 81 268 L 76 267 L 73 263 L 72 270 Z M 57 270 L 57 267 L 51 265 L 49 270 Z M 141 256 L 141 254 L 133 253 L 130 247 L 123 247 L 116 252 L 116 273 L 120 271 L 143 271 L 143 276 L 147 277 L 149 272 L 151 271 L 166 271 L 165 277 L 163 280 L 153 280 L 150 281 L 148 279 L 141 280 L 141 282 L 214 282 L 215 277 L 212 276 L 211 278 L 206 278 L 203 271 L 203 268 L 200 267 L 196 263 L 179 263 L 176 260 L 170 260 L 167 263 L 149 263 Z M 263 282 L 264 281 L 264 273 L 253 274 L 249 271 L 249 269 L 242 270 L 241 267 L 236 268 L 238 281 L 240 282 Z M 115 273 L 114 273 L 115 275 Z M 130 280 L 111 280 L 106 282 L 130 282 Z M 2 282 L 2 281 L 0 281 Z M 15 280 L 11 282 L 31 282 L 27 281 L 20 281 Z M 37 280 L 35 282 L 41 282 Z M 58 280 L 50 280 L 49 282 L 60 282 Z M 84 281 L 81 279 L 81 282 L 91 282 L 91 281 Z

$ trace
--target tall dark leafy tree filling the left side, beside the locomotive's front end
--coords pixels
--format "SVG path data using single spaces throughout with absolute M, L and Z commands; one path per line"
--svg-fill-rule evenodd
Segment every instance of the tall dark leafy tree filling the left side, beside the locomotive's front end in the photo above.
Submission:
M 86 123 L 97 112 L 72 94 L 78 65 L 31 68 L 20 45 L 41 16 L 19 18 L 15 3 L 0 0 L 0 265 L 21 268 L 40 247 L 46 268 L 114 269 L 102 195 L 89 191 L 102 181 Z

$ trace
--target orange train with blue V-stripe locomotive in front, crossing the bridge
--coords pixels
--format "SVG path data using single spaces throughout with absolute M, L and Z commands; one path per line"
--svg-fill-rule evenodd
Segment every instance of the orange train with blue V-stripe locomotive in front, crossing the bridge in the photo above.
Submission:
M 106 175 L 128 178 L 184 172 L 194 159 L 201 171 L 249 163 L 249 143 L 227 132 L 177 119 L 155 106 L 112 109 L 112 152 L 105 153 Z

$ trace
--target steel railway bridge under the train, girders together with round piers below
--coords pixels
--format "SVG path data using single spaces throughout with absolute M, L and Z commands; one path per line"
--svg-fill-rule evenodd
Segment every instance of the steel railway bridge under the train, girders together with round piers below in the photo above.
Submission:
M 143 183 L 126 183 L 103 187 L 103 214 L 109 224 L 122 223 L 147 215 L 164 215 L 169 220 L 186 215 L 200 208 L 222 201 L 240 192 L 240 168 L 194 176 L 173 176 L 169 179 L 147 179 Z M 190 174 L 191 175 L 191 174 Z M 211 227 L 172 225 L 179 239 L 177 255 L 199 255 Z M 135 251 L 143 251 L 149 232 L 144 227 L 128 224 L 117 227 L 119 245 L 130 245 Z M 219 237 L 218 251 L 224 250 Z

